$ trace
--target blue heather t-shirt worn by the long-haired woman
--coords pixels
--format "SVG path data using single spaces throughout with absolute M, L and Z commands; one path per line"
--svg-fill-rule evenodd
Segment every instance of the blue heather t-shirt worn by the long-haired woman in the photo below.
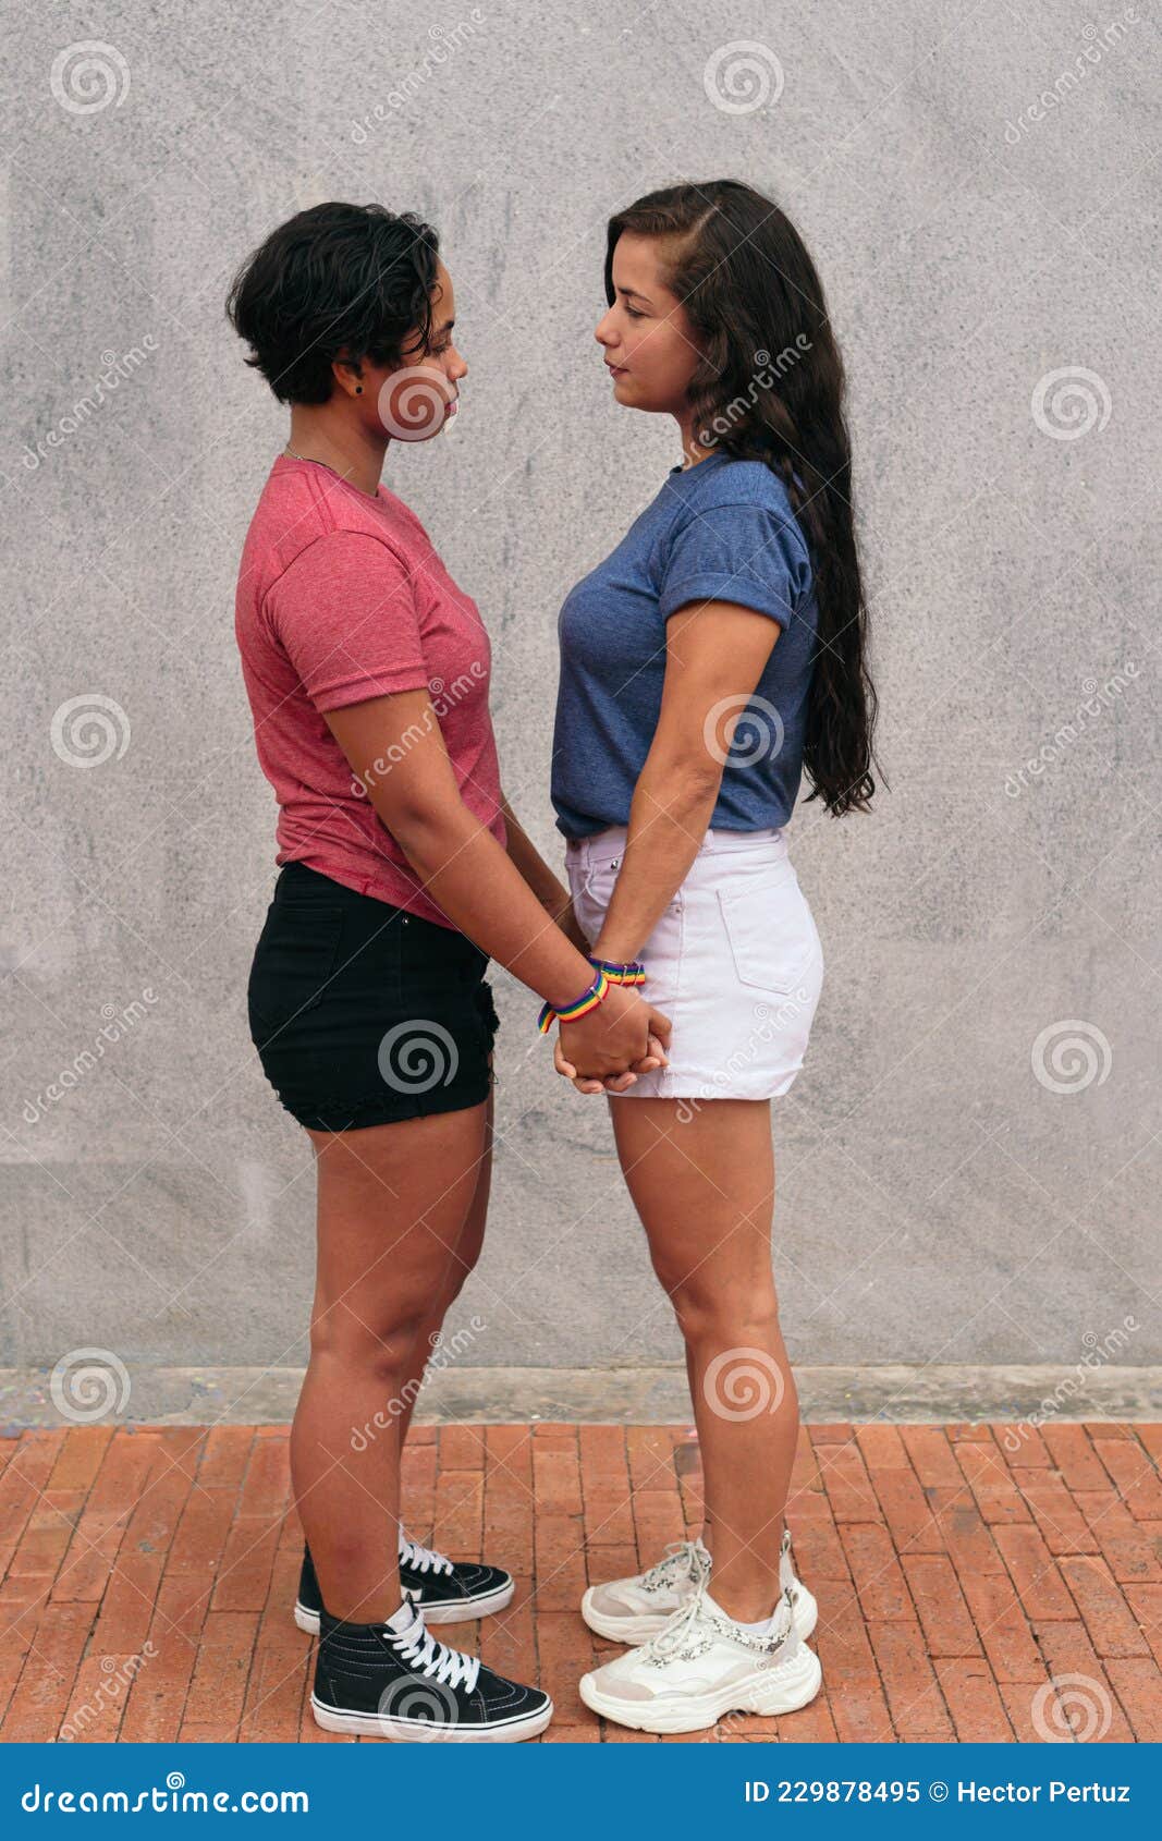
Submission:
M 665 624 L 691 600 L 738 602 L 781 628 L 738 716 L 711 830 L 790 819 L 816 657 L 810 554 L 779 475 L 718 449 L 668 473 L 560 611 L 552 805 L 565 838 L 628 825 L 661 711 Z

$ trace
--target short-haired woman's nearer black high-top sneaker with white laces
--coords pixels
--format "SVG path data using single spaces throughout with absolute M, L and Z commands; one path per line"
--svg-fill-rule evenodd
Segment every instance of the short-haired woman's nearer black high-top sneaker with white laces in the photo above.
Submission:
M 328 1732 L 508 1743 L 536 1738 L 552 1719 L 547 1694 L 436 1642 L 409 1598 L 383 1624 L 344 1624 L 326 1609 L 319 1616 L 311 1712 Z

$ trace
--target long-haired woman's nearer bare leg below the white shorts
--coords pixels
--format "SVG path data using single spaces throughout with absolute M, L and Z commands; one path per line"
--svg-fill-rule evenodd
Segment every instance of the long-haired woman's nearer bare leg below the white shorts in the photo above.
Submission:
M 783 1510 L 799 1399 L 770 1257 L 770 1103 L 611 1099 L 613 1134 L 650 1257 L 687 1344 L 713 1594 L 744 1624 L 779 1600 Z

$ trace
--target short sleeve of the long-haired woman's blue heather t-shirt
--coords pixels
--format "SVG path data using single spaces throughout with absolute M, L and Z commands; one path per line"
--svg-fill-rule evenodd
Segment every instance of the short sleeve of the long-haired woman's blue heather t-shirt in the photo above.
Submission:
M 691 600 L 733 600 L 786 628 L 810 584 L 797 525 L 762 504 L 711 504 L 676 530 L 663 562 L 663 620 Z

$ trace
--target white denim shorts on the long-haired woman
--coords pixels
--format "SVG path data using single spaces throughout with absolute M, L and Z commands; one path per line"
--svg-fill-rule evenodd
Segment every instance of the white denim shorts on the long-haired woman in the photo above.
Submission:
M 573 911 L 600 933 L 626 827 L 569 838 Z M 668 1068 L 622 1099 L 777 1099 L 794 1083 L 823 989 L 823 948 L 784 830 L 707 830 L 639 952 L 643 996 L 670 1018 Z

